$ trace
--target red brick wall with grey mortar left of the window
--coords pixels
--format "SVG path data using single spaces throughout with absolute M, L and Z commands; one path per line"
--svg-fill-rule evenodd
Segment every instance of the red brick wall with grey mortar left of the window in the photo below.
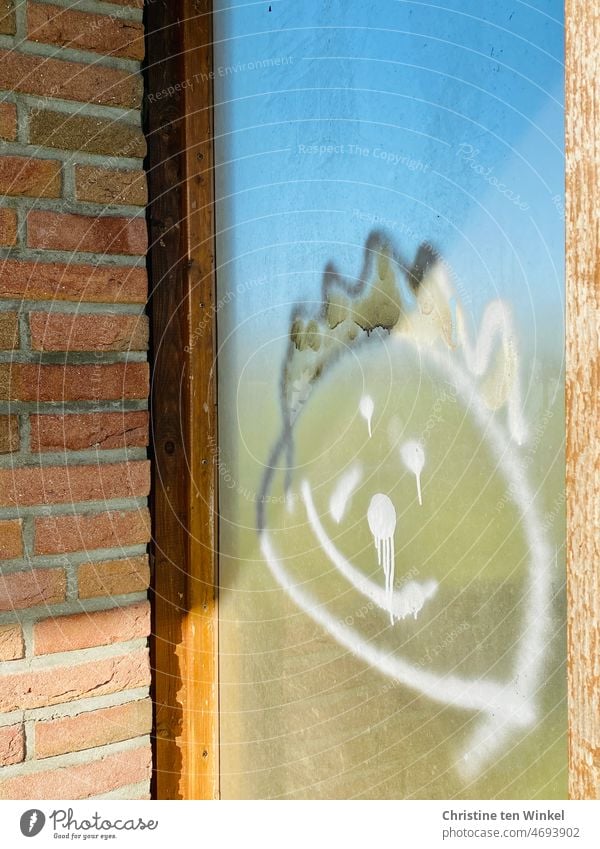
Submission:
M 0 799 L 150 770 L 142 0 L 0 0 Z

